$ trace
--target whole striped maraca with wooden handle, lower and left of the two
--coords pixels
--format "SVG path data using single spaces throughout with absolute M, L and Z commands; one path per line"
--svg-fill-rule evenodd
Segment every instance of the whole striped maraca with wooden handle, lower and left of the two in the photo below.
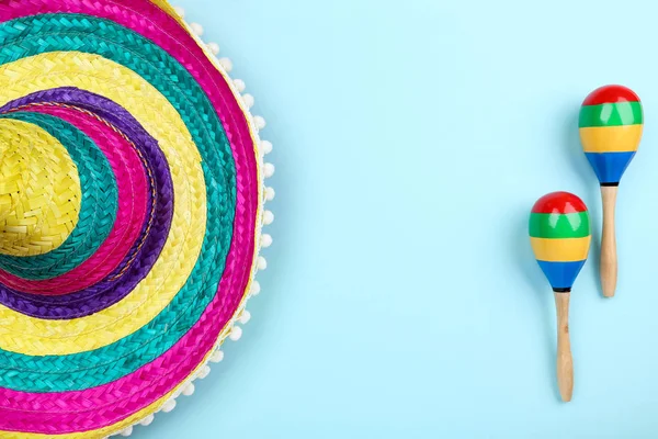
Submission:
M 569 299 L 590 247 L 587 206 L 569 192 L 548 193 L 532 207 L 529 233 L 535 258 L 555 292 L 557 383 L 563 401 L 569 402 L 574 392 Z

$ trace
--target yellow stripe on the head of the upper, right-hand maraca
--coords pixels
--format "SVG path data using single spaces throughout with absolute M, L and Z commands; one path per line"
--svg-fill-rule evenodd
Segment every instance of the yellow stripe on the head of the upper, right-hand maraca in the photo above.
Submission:
M 642 124 L 579 128 L 586 153 L 632 153 L 642 139 Z

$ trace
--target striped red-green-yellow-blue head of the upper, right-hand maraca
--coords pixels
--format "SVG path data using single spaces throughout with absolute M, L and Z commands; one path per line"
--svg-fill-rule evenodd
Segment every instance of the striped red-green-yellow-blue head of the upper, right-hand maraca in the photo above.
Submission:
M 582 102 L 578 126 L 582 149 L 601 185 L 617 185 L 642 138 L 639 98 L 623 86 L 598 88 Z

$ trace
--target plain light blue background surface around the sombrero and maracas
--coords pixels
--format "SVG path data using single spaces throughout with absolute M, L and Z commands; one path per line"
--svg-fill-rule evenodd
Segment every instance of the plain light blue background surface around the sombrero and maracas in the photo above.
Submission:
M 136 438 L 655 438 L 658 7 L 180 0 L 234 60 L 274 144 L 275 243 L 242 339 Z M 571 297 L 574 401 L 526 222 L 600 199 L 577 113 L 645 104 L 622 180 L 617 296 L 598 246 Z

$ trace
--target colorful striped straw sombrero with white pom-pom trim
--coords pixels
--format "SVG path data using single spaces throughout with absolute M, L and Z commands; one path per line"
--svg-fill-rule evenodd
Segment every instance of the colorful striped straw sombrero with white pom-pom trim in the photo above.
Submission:
M 127 436 L 239 338 L 273 172 L 163 0 L 0 0 L 0 438 Z

